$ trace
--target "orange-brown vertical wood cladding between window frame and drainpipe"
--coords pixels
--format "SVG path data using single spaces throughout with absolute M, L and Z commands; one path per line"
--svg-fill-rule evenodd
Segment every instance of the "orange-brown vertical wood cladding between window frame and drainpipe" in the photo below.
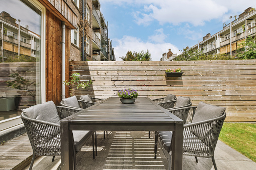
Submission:
M 46 10 L 46 101 L 61 101 L 61 21 Z

